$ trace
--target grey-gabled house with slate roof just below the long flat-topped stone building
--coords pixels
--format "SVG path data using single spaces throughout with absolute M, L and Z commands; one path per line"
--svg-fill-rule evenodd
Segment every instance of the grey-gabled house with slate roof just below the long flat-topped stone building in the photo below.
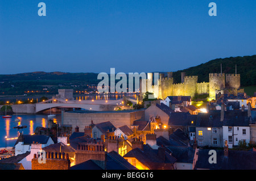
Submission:
M 106 135 L 107 132 L 114 132 L 115 129 L 116 128 L 110 121 L 95 124 L 92 128 L 92 138 L 101 138 L 102 134 Z

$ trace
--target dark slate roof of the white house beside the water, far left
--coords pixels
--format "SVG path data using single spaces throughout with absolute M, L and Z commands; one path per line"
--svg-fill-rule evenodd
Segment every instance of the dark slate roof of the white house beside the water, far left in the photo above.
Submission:
M 50 136 L 46 136 L 46 135 L 20 134 L 20 136 L 15 142 L 15 145 L 18 144 L 18 142 L 24 142 L 24 145 L 31 145 L 33 141 L 38 142 L 40 144 L 47 144 L 47 141 L 49 140 L 49 138 Z

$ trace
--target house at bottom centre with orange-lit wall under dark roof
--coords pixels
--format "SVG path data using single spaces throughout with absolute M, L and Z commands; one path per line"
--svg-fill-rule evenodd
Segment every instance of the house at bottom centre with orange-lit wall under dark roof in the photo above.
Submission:
M 139 170 L 175 170 L 176 158 L 163 147 L 152 149 L 150 145 L 135 148 L 123 156 L 131 165 Z

